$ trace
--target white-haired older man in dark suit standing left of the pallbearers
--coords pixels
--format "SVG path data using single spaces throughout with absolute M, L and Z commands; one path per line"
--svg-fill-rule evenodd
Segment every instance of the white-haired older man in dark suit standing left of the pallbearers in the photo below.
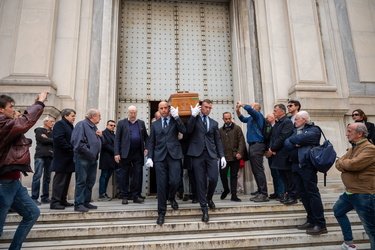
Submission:
M 133 199 L 134 203 L 144 202 L 141 192 L 144 155 L 148 152 L 148 134 L 145 122 L 137 119 L 137 112 L 135 106 L 128 107 L 128 118 L 119 121 L 115 136 L 115 161 L 120 163 L 118 178 L 124 205 L 128 204 L 128 199 Z

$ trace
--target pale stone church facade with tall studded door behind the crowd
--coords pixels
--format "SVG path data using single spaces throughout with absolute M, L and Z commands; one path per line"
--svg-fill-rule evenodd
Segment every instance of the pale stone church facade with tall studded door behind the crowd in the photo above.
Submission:
M 16 107 L 48 90 L 44 115 L 98 108 L 100 129 L 129 105 L 149 123 L 177 91 L 220 124 L 239 100 L 266 115 L 297 99 L 342 155 L 351 111 L 375 121 L 375 0 L 1 0 L 0 65 Z

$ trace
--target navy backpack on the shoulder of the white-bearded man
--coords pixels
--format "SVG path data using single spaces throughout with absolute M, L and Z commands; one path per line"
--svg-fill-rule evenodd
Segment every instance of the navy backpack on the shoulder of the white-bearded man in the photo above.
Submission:
M 322 129 L 320 127 L 318 128 L 324 137 L 324 142 L 322 145 L 313 147 L 310 150 L 310 161 L 316 170 L 324 173 L 324 186 L 326 186 L 327 172 L 335 163 L 337 154 L 332 143 L 327 140 Z

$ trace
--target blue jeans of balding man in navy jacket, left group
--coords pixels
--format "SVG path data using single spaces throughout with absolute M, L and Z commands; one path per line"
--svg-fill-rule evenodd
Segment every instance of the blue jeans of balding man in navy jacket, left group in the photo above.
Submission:
M 79 155 L 73 158 L 76 170 L 76 190 L 74 192 L 74 206 L 90 203 L 92 188 L 95 184 L 97 160 L 88 160 Z

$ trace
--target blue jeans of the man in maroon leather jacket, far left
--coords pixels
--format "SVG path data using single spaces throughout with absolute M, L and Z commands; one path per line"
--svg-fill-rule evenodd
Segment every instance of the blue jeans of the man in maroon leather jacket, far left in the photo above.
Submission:
M 22 221 L 18 225 L 9 249 L 21 249 L 22 243 L 38 219 L 40 211 L 20 180 L 0 180 L 0 236 L 3 233 L 9 208 L 22 216 Z

